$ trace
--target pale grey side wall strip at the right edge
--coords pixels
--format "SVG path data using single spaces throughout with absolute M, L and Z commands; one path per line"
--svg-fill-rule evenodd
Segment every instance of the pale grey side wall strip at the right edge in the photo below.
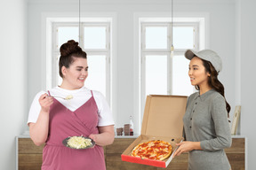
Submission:
M 241 133 L 248 138 L 248 169 L 255 169 L 255 37 L 256 37 L 256 23 L 255 23 L 255 6 L 254 0 L 239 0 L 240 6 L 240 20 L 238 25 L 240 27 L 240 40 L 238 43 L 241 65 Z

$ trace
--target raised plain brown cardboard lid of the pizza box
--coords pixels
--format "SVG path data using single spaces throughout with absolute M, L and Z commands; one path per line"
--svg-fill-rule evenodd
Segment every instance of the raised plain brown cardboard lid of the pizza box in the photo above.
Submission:
M 180 137 L 187 98 L 183 96 L 150 95 L 147 97 L 141 135 Z

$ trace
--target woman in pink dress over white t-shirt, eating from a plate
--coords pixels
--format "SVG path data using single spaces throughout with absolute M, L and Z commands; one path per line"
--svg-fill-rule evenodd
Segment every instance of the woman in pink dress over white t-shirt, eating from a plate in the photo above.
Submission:
M 60 86 L 39 92 L 31 104 L 28 126 L 36 145 L 45 143 L 42 170 L 105 170 L 101 146 L 113 143 L 114 121 L 100 92 L 84 87 L 86 53 L 70 40 L 60 47 Z M 85 150 L 62 144 L 68 136 L 89 136 L 96 143 Z

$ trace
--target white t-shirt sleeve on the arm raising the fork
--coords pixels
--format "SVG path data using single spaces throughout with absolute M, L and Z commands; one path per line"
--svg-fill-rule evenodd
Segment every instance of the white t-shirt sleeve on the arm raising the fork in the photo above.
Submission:
M 36 123 L 36 120 L 38 119 L 39 113 L 41 111 L 41 105 L 39 104 L 39 98 L 41 97 L 41 95 L 43 95 L 45 92 L 44 91 L 40 91 L 39 93 L 36 94 L 36 97 L 34 98 L 30 109 L 29 109 L 29 113 L 28 113 L 28 123 Z

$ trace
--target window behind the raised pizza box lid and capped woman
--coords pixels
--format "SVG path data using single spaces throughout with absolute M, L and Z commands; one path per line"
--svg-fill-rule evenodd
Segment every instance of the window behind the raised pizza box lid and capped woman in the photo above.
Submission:
M 200 22 L 178 19 L 172 27 L 170 21 L 159 20 L 140 20 L 141 112 L 148 95 L 189 96 L 195 90 L 188 78 L 189 60 L 184 52 L 199 49 Z M 174 55 L 171 57 L 172 41 Z

